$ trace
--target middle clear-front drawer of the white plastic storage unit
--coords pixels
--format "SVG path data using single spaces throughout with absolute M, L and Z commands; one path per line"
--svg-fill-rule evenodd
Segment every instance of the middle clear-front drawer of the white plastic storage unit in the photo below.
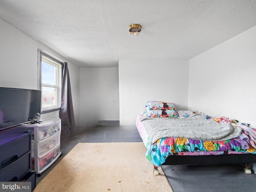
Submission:
M 53 136 L 50 136 L 48 139 L 42 140 L 42 142 L 38 143 L 38 156 L 42 156 L 58 144 L 60 144 L 60 131 Z

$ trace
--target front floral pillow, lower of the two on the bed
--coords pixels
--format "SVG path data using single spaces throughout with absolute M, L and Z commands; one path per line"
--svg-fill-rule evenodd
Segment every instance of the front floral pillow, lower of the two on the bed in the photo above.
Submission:
M 150 110 L 148 106 L 146 106 L 146 114 L 148 117 L 162 117 L 162 118 L 178 118 L 178 111 L 175 110 Z

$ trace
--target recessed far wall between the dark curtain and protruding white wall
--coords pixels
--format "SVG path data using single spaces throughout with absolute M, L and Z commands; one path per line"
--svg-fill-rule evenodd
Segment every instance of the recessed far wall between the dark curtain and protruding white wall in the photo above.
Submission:
M 119 120 L 118 68 L 80 68 L 81 128 Z

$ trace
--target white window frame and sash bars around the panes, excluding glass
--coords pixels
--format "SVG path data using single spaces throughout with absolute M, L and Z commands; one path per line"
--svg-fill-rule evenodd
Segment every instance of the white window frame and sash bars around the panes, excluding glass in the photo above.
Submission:
M 42 104 L 41 104 L 41 114 L 46 114 L 49 112 L 54 112 L 54 111 L 59 111 L 60 110 L 60 104 L 61 104 L 61 89 L 62 89 L 62 64 L 63 62 L 61 60 L 59 60 L 58 58 L 55 58 L 54 56 L 51 56 L 50 54 L 42 51 L 42 50 L 38 50 L 38 56 L 39 56 L 39 78 L 38 78 L 38 89 L 42 90 L 42 87 L 54 87 L 56 88 L 56 92 L 58 95 L 58 98 L 56 97 L 56 102 L 57 104 L 55 106 L 50 106 L 50 107 L 44 107 L 43 108 L 43 98 L 42 98 Z M 52 86 L 50 84 L 43 84 L 42 83 L 42 56 L 46 58 L 46 60 L 49 60 L 50 65 L 52 66 L 56 66 L 58 68 L 58 70 L 55 70 L 55 76 L 57 76 L 56 78 L 56 86 Z

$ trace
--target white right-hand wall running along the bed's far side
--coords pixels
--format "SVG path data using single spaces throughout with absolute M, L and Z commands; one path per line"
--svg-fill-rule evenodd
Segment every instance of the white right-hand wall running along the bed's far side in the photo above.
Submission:
M 256 26 L 190 60 L 188 107 L 256 128 Z

